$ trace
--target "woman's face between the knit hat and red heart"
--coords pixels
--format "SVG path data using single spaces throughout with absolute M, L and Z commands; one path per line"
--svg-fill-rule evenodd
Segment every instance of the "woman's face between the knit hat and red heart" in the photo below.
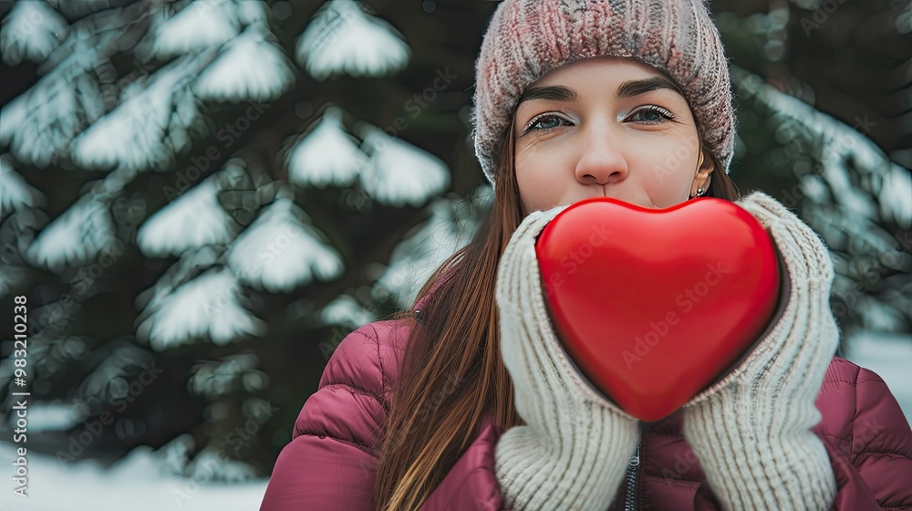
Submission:
M 589 58 L 545 75 L 520 97 L 513 137 L 523 214 L 598 196 L 666 208 L 709 185 L 687 100 L 629 60 Z

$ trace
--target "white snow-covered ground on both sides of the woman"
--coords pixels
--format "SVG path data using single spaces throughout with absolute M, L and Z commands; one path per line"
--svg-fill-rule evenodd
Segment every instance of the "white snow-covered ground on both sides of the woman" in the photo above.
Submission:
M 912 339 L 865 334 L 849 342 L 849 360 L 886 381 L 907 419 L 912 417 Z M 0 466 L 10 474 L 14 445 L 0 442 Z M 4 475 L 2 511 L 231 511 L 255 510 L 265 480 L 224 485 L 196 483 L 169 474 L 148 448 L 134 450 L 110 469 L 92 461 L 62 464 L 53 456 L 28 455 L 28 498 L 12 495 Z

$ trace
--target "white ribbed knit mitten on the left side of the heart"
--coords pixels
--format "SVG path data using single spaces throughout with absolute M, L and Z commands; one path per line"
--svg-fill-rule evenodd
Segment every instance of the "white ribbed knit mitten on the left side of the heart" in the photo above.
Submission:
M 521 511 L 604 511 L 637 447 L 637 419 L 575 370 L 544 305 L 535 237 L 565 207 L 527 216 L 498 266 L 501 355 L 525 424 L 503 433 L 494 467 Z

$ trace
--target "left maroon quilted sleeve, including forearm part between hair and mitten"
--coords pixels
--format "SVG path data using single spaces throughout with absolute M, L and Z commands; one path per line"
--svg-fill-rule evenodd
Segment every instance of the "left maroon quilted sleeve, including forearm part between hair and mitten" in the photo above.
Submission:
M 378 432 L 399 378 L 409 328 L 378 321 L 347 335 L 275 461 L 260 511 L 364 511 L 373 491 Z M 501 511 L 494 445 L 501 430 L 485 417 L 479 434 L 421 511 Z

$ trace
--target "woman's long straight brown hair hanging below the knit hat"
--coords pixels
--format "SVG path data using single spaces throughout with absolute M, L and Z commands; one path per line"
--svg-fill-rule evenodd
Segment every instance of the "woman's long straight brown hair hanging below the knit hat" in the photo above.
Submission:
M 419 297 L 436 287 L 412 322 L 379 442 L 374 502 L 379 511 L 418 509 L 475 436 L 485 412 L 504 429 L 521 423 L 513 383 L 500 356 L 494 304 L 497 264 L 523 220 L 513 167 L 513 123 L 503 137 L 494 201 L 472 242 L 448 258 Z M 712 153 L 708 196 L 734 201 L 738 190 Z

